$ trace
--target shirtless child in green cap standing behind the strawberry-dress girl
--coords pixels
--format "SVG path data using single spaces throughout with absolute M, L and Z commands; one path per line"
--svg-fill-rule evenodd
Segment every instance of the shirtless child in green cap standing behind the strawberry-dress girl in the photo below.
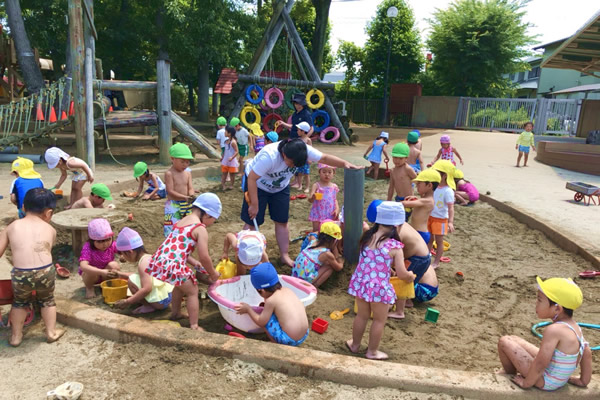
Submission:
M 169 149 L 169 154 L 172 165 L 165 172 L 165 185 L 167 186 L 163 226 L 165 237 L 169 236 L 177 221 L 191 212 L 190 200 L 194 195 L 192 174 L 186 170 L 190 165 L 190 160 L 194 159 L 190 148 L 183 143 L 175 143 Z

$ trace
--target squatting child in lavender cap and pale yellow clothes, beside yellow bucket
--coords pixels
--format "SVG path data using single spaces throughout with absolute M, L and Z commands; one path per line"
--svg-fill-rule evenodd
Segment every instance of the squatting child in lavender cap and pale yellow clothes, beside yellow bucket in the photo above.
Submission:
M 150 264 L 150 254 L 146 253 L 142 237 L 133 229 L 125 227 L 117 236 L 117 251 L 127 261 L 137 263 L 137 272 L 127 280 L 128 295 L 131 296 L 115 303 L 116 308 L 126 308 L 130 304 L 142 304 L 134 314 L 145 314 L 164 310 L 171 303 L 173 285 L 159 281 L 146 272 Z

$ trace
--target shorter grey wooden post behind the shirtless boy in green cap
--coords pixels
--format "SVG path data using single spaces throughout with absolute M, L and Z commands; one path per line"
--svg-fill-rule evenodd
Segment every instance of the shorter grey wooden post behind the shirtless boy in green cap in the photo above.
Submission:
M 158 114 L 158 146 L 160 162 L 171 163 L 169 148 L 171 147 L 171 64 L 167 60 L 156 61 L 157 109 Z

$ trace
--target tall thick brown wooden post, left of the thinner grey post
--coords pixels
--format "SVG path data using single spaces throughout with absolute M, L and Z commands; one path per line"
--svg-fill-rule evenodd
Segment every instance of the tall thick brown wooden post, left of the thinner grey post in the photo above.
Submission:
M 83 20 L 81 10 L 82 0 L 69 0 L 69 39 L 71 41 L 71 59 L 73 62 L 73 103 L 75 120 L 75 143 L 77 145 L 77 157 L 86 159 L 86 134 L 85 134 L 85 98 L 84 98 L 84 44 L 83 44 Z M 87 161 L 87 160 L 86 160 Z

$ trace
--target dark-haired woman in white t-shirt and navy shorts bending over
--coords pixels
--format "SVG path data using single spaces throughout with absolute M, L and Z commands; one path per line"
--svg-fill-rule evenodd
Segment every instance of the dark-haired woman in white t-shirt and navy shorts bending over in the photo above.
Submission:
M 248 192 L 250 205 L 244 198 L 241 213 L 241 218 L 246 223 L 244 229 L 254 228 L 254 218 L 258 225 L 262 225 L 268 205 L 269 215 L 275 223 L 281 261 L 290 267 L 294 266 L 294 261 L 288 254 L 289 184 L 296 168 L 307 161 L 338 168 L 360 168 L 336 156 L 323 154 L 312 146 L 307 146 L 301 139 L 287 139 L 266 145 L 246 167 L 244 191 Z

